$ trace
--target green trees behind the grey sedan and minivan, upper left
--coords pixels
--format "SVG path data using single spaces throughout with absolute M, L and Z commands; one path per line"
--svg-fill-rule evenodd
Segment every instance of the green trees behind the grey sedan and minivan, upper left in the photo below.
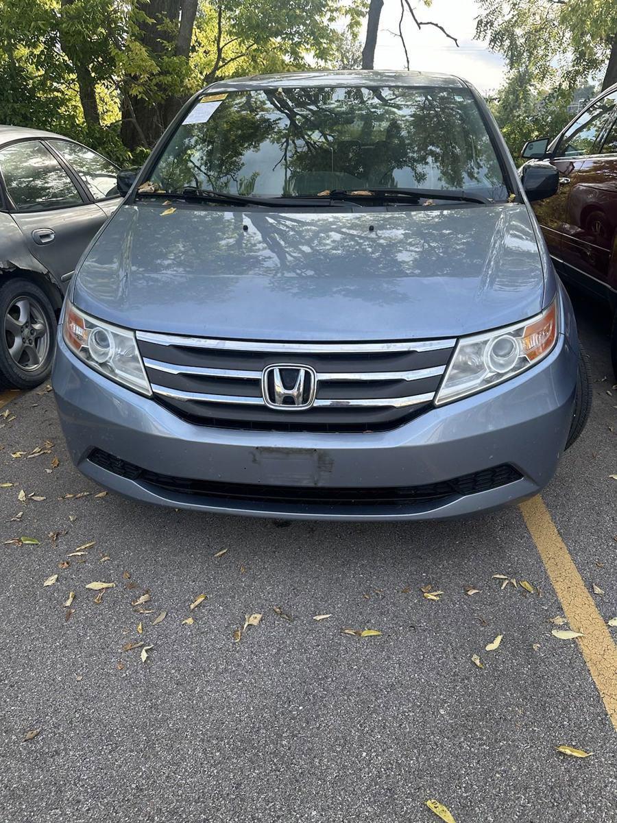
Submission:
M 353 37 L 365 0 L 345 12 Z M 0 0 L 0 122 L 139 161 L 215 79 L 339 62 L 340 22 L 336 0 Z

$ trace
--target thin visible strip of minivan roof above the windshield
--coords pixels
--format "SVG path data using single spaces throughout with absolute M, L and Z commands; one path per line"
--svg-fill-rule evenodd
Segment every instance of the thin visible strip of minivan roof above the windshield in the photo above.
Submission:
M 255 77 L 230 77 L 207 86 L 208 91 L 244 91 L 299 86 L 466 86 L 452 74 L 428 72 L 374 71 L 358 69 L 341 72 L 285 72 L 261 74 Z

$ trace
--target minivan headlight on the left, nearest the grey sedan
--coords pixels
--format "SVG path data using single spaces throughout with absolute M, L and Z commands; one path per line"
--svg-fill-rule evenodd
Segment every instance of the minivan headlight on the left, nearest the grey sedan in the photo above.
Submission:
M 89 317 L 67 301 L 63 339 L 90 368 L 136 392 L 152 393 L 134 332 Z

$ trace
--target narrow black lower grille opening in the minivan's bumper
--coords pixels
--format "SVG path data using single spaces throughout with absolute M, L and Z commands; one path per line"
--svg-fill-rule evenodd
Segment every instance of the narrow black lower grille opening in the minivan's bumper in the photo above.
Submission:
M 148 486 L 156 486 L 165 491 L 180 494 L 201 495 L 224 500 L 246 500 L 258 502 L 326 504 L 336 507 L 354 504 L 401 505 L 410 503 L 444 501 L 448 498 L 477 494 L 482 491 L 505 486 L 521 480 L 522 474 L 516 468 L 504 463 L 480 472 L 454 477 L 452 480 L 427 483 L 423 486 L 392 487 L 338 487 L 327 486 L 267 486 L 248 483 L 227 483 L 223 481 L 194 480 L 187 477 L 172 477 L 150 472 L 114 457 L 102 449 L 94 449 L 90 463 L 113 472 L 120 477 L 140 481 Z

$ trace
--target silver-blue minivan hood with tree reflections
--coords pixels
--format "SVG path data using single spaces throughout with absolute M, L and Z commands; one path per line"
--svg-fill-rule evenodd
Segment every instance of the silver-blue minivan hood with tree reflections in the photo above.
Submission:
M 118 208 L 72 300 L 128 328 L 248 340 L 456 337 L 542 308 L 524 205 L 362 212 Z

